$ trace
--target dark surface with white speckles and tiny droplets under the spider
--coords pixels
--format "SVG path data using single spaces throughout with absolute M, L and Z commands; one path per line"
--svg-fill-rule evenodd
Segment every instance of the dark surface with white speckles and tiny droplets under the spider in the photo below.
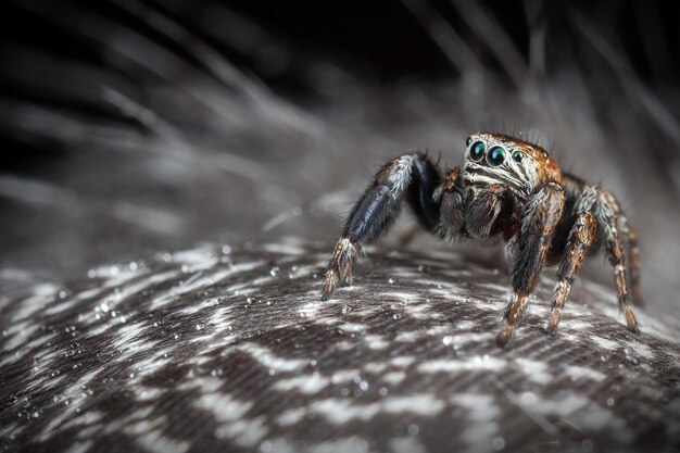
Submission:
M 643 335 L 634 336 L 614 289 L 584 282 L 549 337 L 543 279 L 503 351 L 493 338 L 505 272 L 454 251 L 377 250 L 354 286 L 322 302 L 326 248 L 205 246 L 3 301 L 0 445 L 671 451 L 680 432 L 672 322 L 638 309 Z

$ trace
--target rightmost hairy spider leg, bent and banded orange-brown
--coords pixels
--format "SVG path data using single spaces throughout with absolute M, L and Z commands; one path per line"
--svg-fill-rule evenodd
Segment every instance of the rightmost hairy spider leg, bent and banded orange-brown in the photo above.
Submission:
M 603 231 L 605 251 L 609 259 L 609 264 L 614 267 L 619 310 L 624 312 L 626 316 L 626 327 L 628 330 L 639 334 L 638 322 L 628 303 L 630 285 L 626 270 L 624 241 L 619 229 L 620 209 L 616 199 L 608 190 L 602 187 L 591 186 L 583 191 L 583 197 L 588 197 L 585 194 L 587 191 L 591 192 L 593 199 L 591 213 L 597 219 Z

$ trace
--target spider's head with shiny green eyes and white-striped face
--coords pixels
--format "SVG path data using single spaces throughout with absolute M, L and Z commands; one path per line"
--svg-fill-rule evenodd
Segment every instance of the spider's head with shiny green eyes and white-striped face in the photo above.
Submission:
M 537 144 L 490 133 L 475 133 L 466 144 L 463 178 L 468 186 L 504 183 L 528 196 L 543 183 L 562 180 L 555 161 Z

